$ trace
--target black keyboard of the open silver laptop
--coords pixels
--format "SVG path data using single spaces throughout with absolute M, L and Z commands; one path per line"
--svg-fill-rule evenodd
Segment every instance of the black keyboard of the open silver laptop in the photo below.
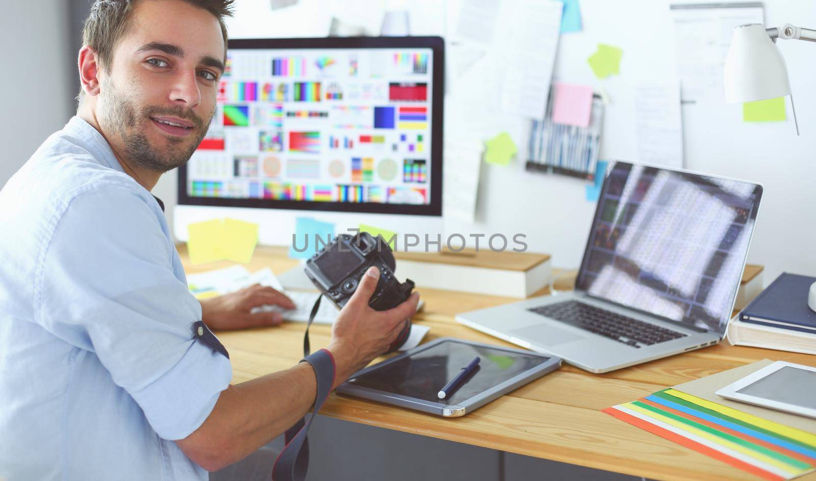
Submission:
M 530 311 L 556 319 L 561 323 L 570 324 L 570 326 L 580 327 L 585 331 L 609 337 L 614 341 L 635 348 L 640 348 L 641 345 L 654 345 L 659 342 L 672 341 L 686 336 L 682 332 L 644 323 L 578 301 L 542 305 L 534 307 Z

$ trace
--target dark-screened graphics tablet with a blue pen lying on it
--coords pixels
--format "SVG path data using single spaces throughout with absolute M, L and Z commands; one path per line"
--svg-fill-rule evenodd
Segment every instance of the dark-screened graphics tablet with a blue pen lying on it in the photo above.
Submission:
M 475 356 L 481 359 L 478 368 L 446 399 L 438 399 L 439 390 Z M 561 359 L 553 356 L 441 337 L 366 367 L 337 392 L 438 416 L 464 416 L 560 366 Z

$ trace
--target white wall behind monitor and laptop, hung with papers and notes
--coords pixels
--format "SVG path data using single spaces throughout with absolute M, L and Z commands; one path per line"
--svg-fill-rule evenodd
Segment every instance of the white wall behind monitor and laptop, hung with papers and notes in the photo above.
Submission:
M 684 0 L 688 2 L 687 0 Z M 632 86 L 643 79 L 676 78 L 674 31 L 668 0 L 580 0 L 583 31 L 561 36 L 555 78 L 603 88 L 611 98 L 606 107 L 601 158 L 637 158 L 637 131 Z M 410 9 L 413 34 L 455 31 L 461 6 L 450 2 L 328 2 L 300 0 L 297 7 L 270 11 L 267 0 L 241 0 L 230 22 L 234 38 L 320 36 L 330 15 L 378 27 L 384 8 Z M 816 3 L 812 0 L 765 0 L 766 24 L 792 22 L 813 28 Z M 586 59 L 598 42 L 623 48 L 621 74 L 599 81 Z M 788 105 L 787 122 L 747 124 L 741 106 L 728 104 L 684 105 L 685 167 L 712 174 L 756 180 L 765 185 L 756 234 L 748 261 L 766 266 L 765 282 L 783 270 L 816 275 L 816 45 L 780 42 L 787 60 L 792 90 L 799 106 L 801 136 L 796 136 Z M 470 78 L 452 83 L 446 102 L 455 106 L 450 122 L 468 122 L 468 128 L 484 136 L 508 130 L 523 150 L 526 122 L 494 109 L 481 118 L 468 118 L 457 109 L 468 85 L 478 83 L 489 69 L 472 70 Z M 468 91 L 468 95 L 471 91 Z M 484 93 L 484 92 L 483 92 Z M 489 92 L 488 92 L 489 95 Z M 490 102 L 489 98 L 485 99 Z M 523 160 L 523 159 L 521 159 Z M 585 183 L 563 176 L 527 173 L 523 162 L 509 167 L 484 165 L 481 176 L 477 223 L 446 223 L 446 233 L 527 234 L 530 249 L 553 255 L 555 265 L 579 265 L 594 204 L 585 200 Z

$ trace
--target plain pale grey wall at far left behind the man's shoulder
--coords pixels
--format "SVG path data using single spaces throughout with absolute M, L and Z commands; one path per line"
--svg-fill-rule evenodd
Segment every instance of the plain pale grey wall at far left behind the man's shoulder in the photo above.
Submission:
M 0 186 L 73 114 L 66 72 L 68 6 L 53 0 L 3 2 L 0 45 Z

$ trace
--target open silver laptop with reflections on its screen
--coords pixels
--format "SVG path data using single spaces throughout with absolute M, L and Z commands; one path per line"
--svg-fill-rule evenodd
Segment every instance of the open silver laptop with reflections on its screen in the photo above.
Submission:
M 716 344 L 761 196 L 743 180 L 610 163 L 575 290 L 456 320 L 590 372 Z

